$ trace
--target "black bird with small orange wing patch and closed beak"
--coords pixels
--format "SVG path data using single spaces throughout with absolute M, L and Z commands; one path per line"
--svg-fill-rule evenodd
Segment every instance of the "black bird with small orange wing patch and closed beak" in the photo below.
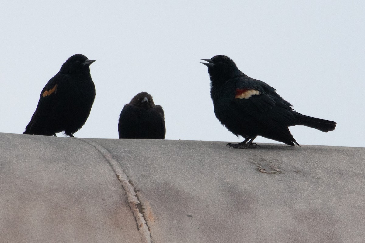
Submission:
M 73 137 L 89 117 L 95 99 L 95 85 L 86 56 L 76 54 L 62 64 L 39 97 L 37 109 L 23 134 L 56 136 L 65 132 Z

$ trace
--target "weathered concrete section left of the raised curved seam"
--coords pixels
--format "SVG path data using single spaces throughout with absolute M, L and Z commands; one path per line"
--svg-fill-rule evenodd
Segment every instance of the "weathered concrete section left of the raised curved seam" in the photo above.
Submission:
M 0 133 L 0 149 L 0 242 L 142 242 L 115 173 L 86 142 Z

